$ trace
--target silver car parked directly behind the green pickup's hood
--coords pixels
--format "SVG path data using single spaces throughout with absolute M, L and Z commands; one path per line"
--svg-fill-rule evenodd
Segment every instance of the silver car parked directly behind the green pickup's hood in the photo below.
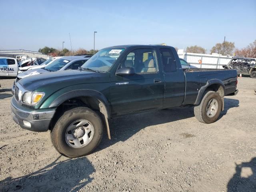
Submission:
M 52 63 L 38 69 L 27 70 L 18 74 L 16 80 L 14 81 L 14 85 L 16 82 L 22 78 L 33 76 L 41 73 L 48 73 L 54 71 L 63 71 L 63 70 L 70 70 L 70 69 L 78 69 L 82 66 L 89 58 L 81 57 L 81 56 L 66 56 L 62 58 L 58 58 L 54 60 Z M 13 87 L 14 88 L 14 87 Z

